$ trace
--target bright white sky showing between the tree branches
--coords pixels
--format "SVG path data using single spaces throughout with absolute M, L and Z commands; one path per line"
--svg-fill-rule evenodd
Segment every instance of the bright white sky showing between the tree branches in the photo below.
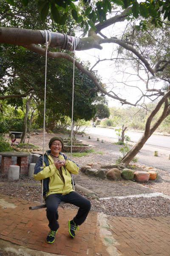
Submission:
M 108 38 L 110 37 L 118 37 L 119 35 L 122 35 L 123 31 L 125 30 L 125 22 L 119 22 L 116 23 L 114 26 L 109 26 L 106 29 L 102 30 L 102 33 L 106 35 Z M 102 44 L 103 47 L 102 50 L 99 49 L 89 49 L 85 51 L 76 51 L 76 56 L 78 58 L 81 58 L 83 61 L 90 61 L 91 67 L 98 61 L 98 59 L 102 60 L 105 58 L 116 58 L 116 47 L 117 44 Z M 135 74 L 135 70 L 133 70 L 130 66 L 125 67 L 126 71 L 129 73 Z M 145 84 L 143 81 L 141 81 L 137 76 L 129 76 L 129 75 L 123 75 L 121 72 L 117 72 L 115 65 L 112 61 L 101 61 L 99 64 L 97 64 L 93 70 L 97 70 L 99 76 L 101 76 L 102 82 L 107 84 L 107 86 L 111 86 L 112 88 L 114 86 L 114 92 L 118 94 L 123 99 L 127 99 L 127 101 L 132 102 L 133 104 L 136 102 L 137 99 L 141 96 L 141 91 L 139 89 L 136 89 L 135 87 L 130 86 L 138 86 L 143 91 L 145 89 Z M 115 73 L 116 70 L 116 73 Z M 140 74 L 142 78 L 145 77 L 145 74 Z M 125 87 L 124 84 L 121 83 L 121 81 L 126 81 L 128 77 L 128 86 Z M 116 81 L 113 82 L 113 79 L 116 79 Z M 119 82 L 119 83 L 118 83 Z M 108 89 L 109 90 L 109 89 Z M 112 99 L 111 97 L 108 97 L 108 105 L 109 107 L 112 106 L 122 106 L 122 104 L 115 99 Z M 142 99 L 143 102 L 143 99 Z M 141 102 L 141 103 L 142 103 Z M 150 102 L 149 99 L 145 98 L 145 103 Z M 124 105 L 125 106 L 125 105 Z

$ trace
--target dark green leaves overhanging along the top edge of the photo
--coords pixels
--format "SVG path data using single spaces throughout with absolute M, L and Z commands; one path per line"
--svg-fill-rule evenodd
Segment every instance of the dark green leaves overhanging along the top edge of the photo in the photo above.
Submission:
M 10 5 L 15 6 L 18 0 L 6 0 Z M 20 0 L 23 6 L 27 6 L 31 0 Z M 108 14 L 111 14 L 113 6 L 120 6 L 122 9 L 130 7 L 127 18 L 151 17 L 151 23 L 161 24 L 160 16 L 163 19 L 170 20 L 169 0 L 38 0 L 37 10 L 40 13 L 41 20 L 45 20 L 48 14 L 51 19 L 60 25 L 64 25 L 71 15 L 76 23 L 88 31 L 89 26 L 96 29 L 95 23 L 102 23 L 107 20 Z M 141 22 L 140 25 L 143 25 Z

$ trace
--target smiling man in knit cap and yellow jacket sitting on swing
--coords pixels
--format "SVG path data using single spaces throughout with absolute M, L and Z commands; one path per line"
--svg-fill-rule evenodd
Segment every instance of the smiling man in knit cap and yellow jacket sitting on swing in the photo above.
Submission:
M 77 215 L 68 221 L 68 232 L 72 238 L 91 209 L 91 202 L 73 189 L 71 173 L 77 174 L 79 167 L 61 153 L 63 146 L 61 137 L 52 137 L 49 141 L 51 150 L 46 151 L 43 165 L 41 156 L 34 168 L 34 179 L 43 180 L 43 197 L 50 228 L 46 241 L 49 244 L 54 242 L 59 228 L 57 209 L 61 201 L 79 207 Z

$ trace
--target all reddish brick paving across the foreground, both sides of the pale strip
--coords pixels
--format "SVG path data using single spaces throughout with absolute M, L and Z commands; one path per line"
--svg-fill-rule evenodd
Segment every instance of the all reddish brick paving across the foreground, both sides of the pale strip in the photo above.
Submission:
M 8 207 L 0 207 L 0 239 L 23 247 L 64 256 L 170 256 L 170 216 L 108 216 L 113 239 L 109 254 L 107 244 L 100 237 L 96 212 L 89 213 L 76 238 L 72 239 L 67 221 L 77 211 L 59 207 L 60 228 L 54 244 L 47 244 L 45 238 L 49 229 L 45 209 L 31 211 L 28 207 L 34 203 L 2 194 L 0 201 L 8 202 Z

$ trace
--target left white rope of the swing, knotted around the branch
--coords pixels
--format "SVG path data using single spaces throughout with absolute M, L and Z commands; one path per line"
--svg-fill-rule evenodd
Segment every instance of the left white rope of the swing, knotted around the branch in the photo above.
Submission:
M 43 120 L 43 149 L 42 149 L 42 167 L 44 164 L 44 141 L 45 141 L 45 105 L 46 105 L 46 80 L 47 80 L 47 51 L 48 46 L 51 43 L 51 32 L 49 30 L 44 30 L 45 32 L 45 86 L 44 86 L 44 120 Z M 42 190 L 41 190 L 41 202 L 43 202 L 43 180 L 42 180 Z

